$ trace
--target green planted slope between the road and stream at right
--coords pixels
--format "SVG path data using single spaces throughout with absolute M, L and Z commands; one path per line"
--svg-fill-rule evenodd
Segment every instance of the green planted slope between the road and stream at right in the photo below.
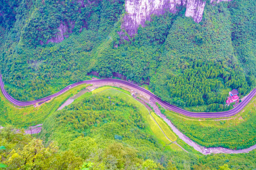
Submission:
M 184 135 L 206 147 L 244 149 L 256 144 L 256 98 L 237 115 L 223 119 L 195 119 L 161 109 Z

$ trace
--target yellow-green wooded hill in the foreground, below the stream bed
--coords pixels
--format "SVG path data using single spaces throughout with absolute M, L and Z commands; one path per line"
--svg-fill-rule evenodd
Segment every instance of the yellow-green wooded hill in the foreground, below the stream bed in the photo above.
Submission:
M 136 105 L 104 93 L 86 96 L 51 114 L 39 136 L 15 133 L 13 127 L 0 129 L 0 161 L 8 165 L 6 169 L 249 170 L 256 166 L 255 151 L 198 156 L 167 149 Z

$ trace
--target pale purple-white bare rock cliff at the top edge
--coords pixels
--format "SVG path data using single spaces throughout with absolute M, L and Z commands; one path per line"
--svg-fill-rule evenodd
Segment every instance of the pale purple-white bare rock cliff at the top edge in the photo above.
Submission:
M 211 3 L 231 0 L 210 0 Z M 175 13 L 177 7 L 186 7 L 185 16 L 192 17 L 195 22 L 202 20 L 205 0 L 126 0 L 126 14 L 123 18 L 121 28 L 129 35 L 137 33 L 139 25 L 145 26 L 145 21 L 150 20 L 150 16 L 161 15 L 166 11 Z

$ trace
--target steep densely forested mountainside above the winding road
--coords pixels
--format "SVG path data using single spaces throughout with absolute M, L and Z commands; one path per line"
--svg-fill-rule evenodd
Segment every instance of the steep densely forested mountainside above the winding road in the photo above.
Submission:
M 120 73 L 174 105 L 227 110 L 229 90 L 244 96 L 255 87 L 255 3 L 208 0 L 200 23 L 184 17 L 184 8 L 152 16 L 126 41 L 119 37 L 123 0 L 2 1 L 5 88 L 27 101 L 89 79 L 92 71 Z

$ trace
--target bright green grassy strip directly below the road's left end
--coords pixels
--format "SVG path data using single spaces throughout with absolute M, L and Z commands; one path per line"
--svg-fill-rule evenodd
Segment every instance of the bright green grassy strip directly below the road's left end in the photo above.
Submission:
M 0 125 L 5 127 L 13 125 L 14 127 L 30 127 L 43 123 L 43 121 L 57 110 L 69 97 L 78 93 L 88 85 L 79 85 L 61 94 L 54 99 L 45 102 L 39 106 L 27 106 L 18 108 L 10 103 L 0 92 Z

